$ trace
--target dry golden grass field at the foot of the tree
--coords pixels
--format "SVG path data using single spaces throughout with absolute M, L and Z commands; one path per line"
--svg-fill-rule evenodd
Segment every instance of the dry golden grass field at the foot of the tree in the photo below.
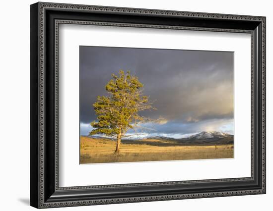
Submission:
M 155 142 L 158 146 L 150 145 Z M 143 140 L 144 144 L 121 143 L 115 154 L 116 142 L 109 139 L 80 137 L 80 163 L 136 162 L 155 160 L 184 160 L 233 158 L 233 144 L 217 146 L 170 146 L 161 140 Z

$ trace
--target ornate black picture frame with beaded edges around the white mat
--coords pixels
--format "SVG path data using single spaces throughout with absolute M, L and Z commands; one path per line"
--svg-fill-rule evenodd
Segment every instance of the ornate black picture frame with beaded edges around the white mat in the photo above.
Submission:
M 30 6 L 30 205 L 68 207 L 266 193 L 266 17 L 38 2 Z M 60 23 L 251 34 L 251 177 L 59 187 Z

